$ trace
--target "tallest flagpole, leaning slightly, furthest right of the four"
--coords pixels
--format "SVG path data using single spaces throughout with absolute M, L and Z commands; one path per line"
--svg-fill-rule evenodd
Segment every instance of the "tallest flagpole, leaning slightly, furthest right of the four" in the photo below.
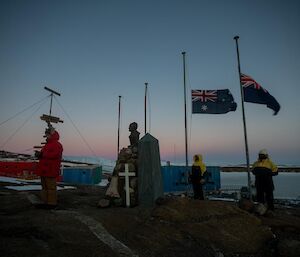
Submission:
M 244 107 L 244 91 L 243 91 L 243 85 L 242 85 L 242 80 L 241 80 L 241 65 L 240 65 L 240 54 L 239 54 L 238 39 L 239 39 L 239 36 L 234 37 L 234 40 L 235 40 L 235 43 L 236 43 L 236 52 L 237 52 L 239 78 L 240 78 L 242 113 L 243 113 L 244 136 L 245 136 L 245 152 L 246 152 L 247 173 L 248 173 L 248 190 L 249 190 L 250 201 L 252 201 L 249 150 L 248 150 L 247 128 L 246 128 L 245 107 Z

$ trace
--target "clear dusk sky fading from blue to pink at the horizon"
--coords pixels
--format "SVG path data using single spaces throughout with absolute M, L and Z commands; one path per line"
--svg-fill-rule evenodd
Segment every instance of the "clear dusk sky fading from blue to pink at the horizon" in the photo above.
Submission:
M 147 82 L 147 132 L 161 160 L 185 163 L 185 51 L 189 163 L 246 163 L 238 35 L 241 71 L 281 105 L 274 116 L 245 103 L 250 161 L 265 148 L 300 164 L 299 24 L 297 0 L 1 0 L 0 150 L 31 154 L 43 141 L 46 86 L 61 94 L 52 115 L 64 155 L 116 160 L 119 96 L 122 148 L 131 122 L 144 136 Z M 226 88 L 235 112 L 191 114 L 191 89 Z

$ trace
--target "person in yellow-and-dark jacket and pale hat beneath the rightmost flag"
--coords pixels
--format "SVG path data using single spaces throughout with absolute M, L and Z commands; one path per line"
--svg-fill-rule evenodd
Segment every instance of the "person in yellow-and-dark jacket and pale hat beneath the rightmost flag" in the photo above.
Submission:
M 273 176 L 278 175 L 277 166 L 270 160 L 266 149 L 260 150 L 258 160 L 252 166 L 252 173 L 255 175 L 255 187 L 257 201 L 267 203 L 268 209 L 274 210 L 274 183 Z

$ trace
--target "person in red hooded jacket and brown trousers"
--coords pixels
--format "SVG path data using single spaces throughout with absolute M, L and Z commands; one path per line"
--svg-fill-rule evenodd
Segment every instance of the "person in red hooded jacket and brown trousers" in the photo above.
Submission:
M 46 144 L 38 154 L 37 175 L 41 176 L 41 207 L 51 209 L 57 206 L 56 178 L 60 172 L 63 147 L 58 141 L 59 134 L 53 127 L 47 129 L 45 135 Z

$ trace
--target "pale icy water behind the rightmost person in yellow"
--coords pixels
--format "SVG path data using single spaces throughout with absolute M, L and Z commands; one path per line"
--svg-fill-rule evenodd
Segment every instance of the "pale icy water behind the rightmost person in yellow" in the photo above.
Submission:
M 251 174 L 251 181 L 255 181 Z M 300 173 L 280 172 L 273 177 L 275 198 L 300 198 Z M 247 186 L 248 176 L 245 172 L 221 172 L 221 187 Z

